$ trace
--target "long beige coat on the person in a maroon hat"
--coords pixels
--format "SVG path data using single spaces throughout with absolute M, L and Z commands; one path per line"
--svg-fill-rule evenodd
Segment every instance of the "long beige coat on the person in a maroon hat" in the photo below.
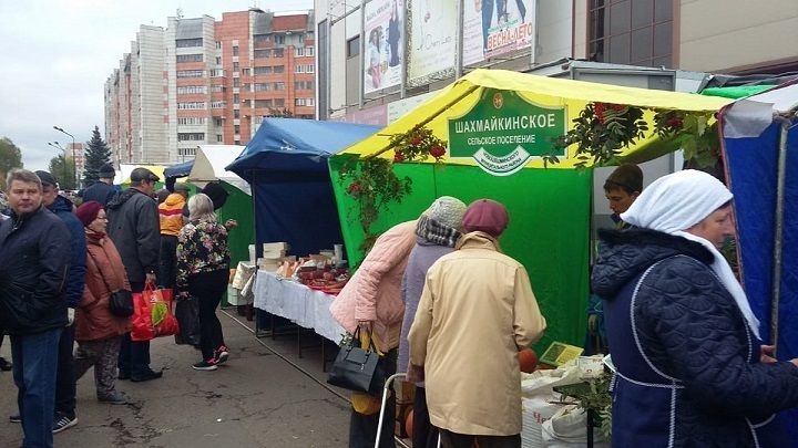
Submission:
M 408 334 L 410 363 L 423 366 L 432 425 L 469 435 L 521 433 L 518 352 L 545 326 L 524 267 L 488 233 L 464 235 L 427 272 Z

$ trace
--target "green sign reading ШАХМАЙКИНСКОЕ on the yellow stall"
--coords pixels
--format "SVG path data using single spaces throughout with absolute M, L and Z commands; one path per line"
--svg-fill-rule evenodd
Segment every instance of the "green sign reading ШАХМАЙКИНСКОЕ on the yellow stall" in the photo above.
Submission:
M 565 107 L 546 107 L 514 91 L 485 88 L 466 114 L 449 118 L 449 155 L 473 158 L 493 176 L 510 176 L 530 158 L 553 150 L 552 142 L 565 134 Z

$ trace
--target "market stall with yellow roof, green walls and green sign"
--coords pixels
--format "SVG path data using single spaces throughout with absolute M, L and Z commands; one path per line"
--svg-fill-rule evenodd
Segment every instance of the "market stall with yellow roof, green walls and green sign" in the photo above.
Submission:
M 364 241 L 417 218 L 436 197 L 499 200 L 510 212 L 502 249 L 526 267 L 549 322 L 538 346 L 552 341 L 581 346 L 589 296 L 591 166 L 596 160 L 582 158 L 579 145 L 563 144 L 562 137 L 581 129 L 574 121 L 598 115 L 605 118 L 605 128 L 618 123 L 628 142 L 598 162 L 641 162 L 679 147 L 681 133 L 656 132 L 663 129 L 665 118 L 699 116 L 706 124 L 728 102 L 473 71 L 380 133 L 330 158 L 348 259 L 356 265 L 362 259 Z M 644 129 L 641 123 L 649 127 Z M 369 197 L 374 190 L 369 179 L 388 178 L 389 171 L 396 179 L 383 183 L 389 188 L 381 192 L 392 200 L 379 204 L 380 199 Z M 364 226 L 364 216 L 374 219 Z

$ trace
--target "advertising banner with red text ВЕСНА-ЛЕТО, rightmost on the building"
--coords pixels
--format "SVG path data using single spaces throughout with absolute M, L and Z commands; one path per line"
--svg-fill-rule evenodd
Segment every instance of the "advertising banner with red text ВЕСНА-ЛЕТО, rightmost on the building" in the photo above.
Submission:
M 463 65 L 534 44 L 535 0 L 464 0 Z

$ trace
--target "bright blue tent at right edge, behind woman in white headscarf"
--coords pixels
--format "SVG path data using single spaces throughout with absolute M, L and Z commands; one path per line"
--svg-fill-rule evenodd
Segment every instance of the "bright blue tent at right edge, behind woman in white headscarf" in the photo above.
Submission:
M 761 322 L 760 335 L 776 344 L 780 361 L 798 357 L 797 110 L 794 82 L 739 100 L 719 118 L 743 284 Z M 798 448 L 798 409 L 779 417 L 790 446 Z

